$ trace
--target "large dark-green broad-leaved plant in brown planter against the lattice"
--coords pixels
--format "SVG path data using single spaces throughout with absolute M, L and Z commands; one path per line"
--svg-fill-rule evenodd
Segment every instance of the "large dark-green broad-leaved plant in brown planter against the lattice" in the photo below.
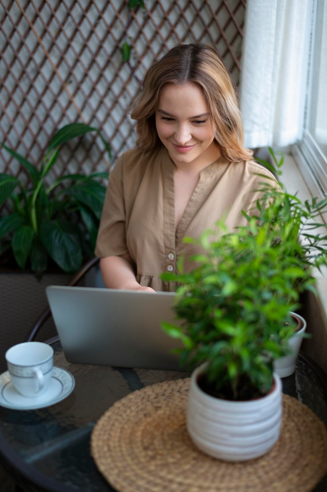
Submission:
M 8 174 L 0 174 L 0 205 L 8 213 L 0 218 L 0 297 L 3 329 L 0 338 L 0 369 L 4 353 L 23 341 L 37 317 L 47 307 L 48 285 L 67 284 L 82 261 L 94 256 L 96 235 L 105 196 L 100 178 L 108 173 L 69 174 L 46 183 L 57 163 L 60 147 L 88 132 L 101 133 L 83 123 L 68 124 L 51 139 L 39 166 L 4 144 L 30 178 L 24 186 Z M 92 272 L 83 280 L 93 281 Z M 93 283 L 91 283 L 93 285 Z M 39 340 L 56 335 L 52 319 L 42 328 Z

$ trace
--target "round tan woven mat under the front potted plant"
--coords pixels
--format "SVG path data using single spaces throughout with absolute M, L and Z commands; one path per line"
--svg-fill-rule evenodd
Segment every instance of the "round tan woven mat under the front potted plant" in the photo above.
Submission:
M 91 454 L 119 492 L 305 492 L 325 475 L 325 425 L 285 395 L 281 435 L 266 455 L 231 463 L 199 451 L 185 427 L 189 381 L 135 391 L 97 422 Z

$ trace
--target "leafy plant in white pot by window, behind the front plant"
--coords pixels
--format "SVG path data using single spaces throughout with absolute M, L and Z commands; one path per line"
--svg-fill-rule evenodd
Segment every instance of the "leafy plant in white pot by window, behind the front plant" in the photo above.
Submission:
M 273 150 L 271 148 L 268 150 L 274 167 L 265 160 L 260 158 L 257 160 L 280 176 L 283 154 L 277 160 Z M 311 290 L 317 295 L 312 271 L 314 268 L 320 270 L 322 266 L 327 265 L 326 224 L 319 220 L 321 214 L 327 212 L 327 199 L 318 201 L 317 198 L 313 198 L 311 203 L 308 200 L 303 203 L 296 195 L 287 193 L 282 183 L 279 183 L 278 189 L 267 181 L 261 191 L 262 199 L 257 201 L 256 206 L 251 210 L 251 216 L 256 217 L 259 228 L 268 227 L 269 230 L 274 231 L 272 247 L 279 247 L 286 242 L 288 248 L 285 254 L 290 259 L 297 257 L 298 268 L 302 270 L 302 275 L 294 278 L 294 290 L 298 294 Z M 243 215 L 250 219 L 249 215 L 245 213 Z M 298 313 L 292 313 L 292 316 L 297 320 L 296 333 L 289 339 L 292 353 L 274 361 L 274 369 L 281 377 L 295 371 L 297 353 L 305 336 L 306 321 Z

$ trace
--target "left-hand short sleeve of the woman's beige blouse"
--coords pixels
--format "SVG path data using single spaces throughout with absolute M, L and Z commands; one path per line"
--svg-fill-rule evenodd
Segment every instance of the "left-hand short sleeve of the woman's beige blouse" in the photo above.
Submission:
M 109 183 L 100 220 L 95 255 L 99 258 L 127 253 L 123 155 L 109 175 Z

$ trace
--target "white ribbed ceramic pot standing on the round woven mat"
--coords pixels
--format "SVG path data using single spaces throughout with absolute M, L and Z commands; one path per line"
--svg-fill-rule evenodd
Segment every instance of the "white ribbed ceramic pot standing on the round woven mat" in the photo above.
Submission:
M 282 384 L 265 397 L 249 401 L 220 400 L 204 393 L 191 376 L 186 425 L 194 444 L 204 453 L 224 461 L 245 461 L 264 455 L 279 437 L 282 418 Z

